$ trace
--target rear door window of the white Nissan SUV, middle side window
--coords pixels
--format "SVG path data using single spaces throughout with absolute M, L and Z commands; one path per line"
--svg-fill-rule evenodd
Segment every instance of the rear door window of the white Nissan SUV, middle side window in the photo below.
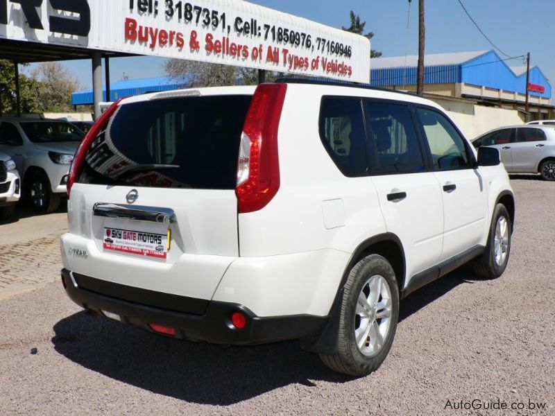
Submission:
M 368 101 L 366 113 L 376 173 L 410 173 L 424 169 L 409 107 Z

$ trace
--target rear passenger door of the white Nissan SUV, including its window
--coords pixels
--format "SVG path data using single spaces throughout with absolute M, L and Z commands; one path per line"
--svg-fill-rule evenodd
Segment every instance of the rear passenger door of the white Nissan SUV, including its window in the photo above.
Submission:
M 372 182 L 387 231 L 402 241 L 407 276 L 436 265 L 443 244 L 443 201 L 427 170 L 408 105 L 366 102 Z M 408 283 L 408 282 L 407 282 Z

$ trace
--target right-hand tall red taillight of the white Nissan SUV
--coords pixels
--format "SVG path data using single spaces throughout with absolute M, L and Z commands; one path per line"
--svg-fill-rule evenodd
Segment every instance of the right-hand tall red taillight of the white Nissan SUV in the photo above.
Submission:
M 287 84 L 262 84 L 250 103 L 235 189 L 241 214 L 264 208 L 280 189 L 278 126 L 286 92 Z

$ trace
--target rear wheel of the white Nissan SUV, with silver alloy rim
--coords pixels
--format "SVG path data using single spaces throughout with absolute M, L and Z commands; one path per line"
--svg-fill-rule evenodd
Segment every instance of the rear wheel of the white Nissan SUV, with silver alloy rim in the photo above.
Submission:
M 377 370 L 393 343 L 399 290 L 391 264 L 378 254 L 361 259 L 349 273 L 339 317 L 338 350 L 320 354 L 331 370 L 366 376 Z

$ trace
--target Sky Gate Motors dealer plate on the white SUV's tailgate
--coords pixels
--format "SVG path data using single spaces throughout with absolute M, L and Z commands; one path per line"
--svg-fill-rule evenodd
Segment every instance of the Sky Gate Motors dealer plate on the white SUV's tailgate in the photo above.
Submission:
M 165 234 L 160 234 L 124 227 L 104 227 L 103 246 L 104 250 L 166 259 L 170 239 L 169 229 Z

